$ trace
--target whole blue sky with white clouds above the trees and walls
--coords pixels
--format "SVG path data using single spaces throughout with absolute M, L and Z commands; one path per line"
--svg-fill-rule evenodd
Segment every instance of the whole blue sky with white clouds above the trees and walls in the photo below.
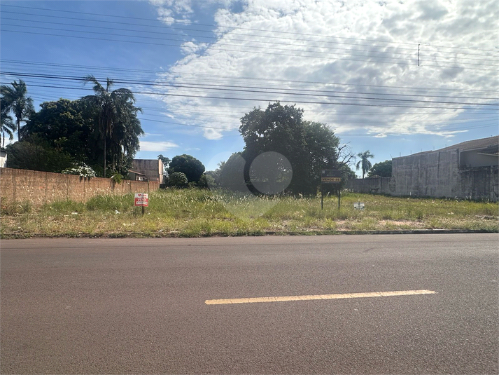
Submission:
M 214 170 L 242 151 L 240 118 L 279 100 L 374 165 L 499 134 L 498 14 L 496 0 L 2 0 L 0 80 L 25 81 L 36 109 L 89 95 L 88 74 L 129 88 L 136 158 Z

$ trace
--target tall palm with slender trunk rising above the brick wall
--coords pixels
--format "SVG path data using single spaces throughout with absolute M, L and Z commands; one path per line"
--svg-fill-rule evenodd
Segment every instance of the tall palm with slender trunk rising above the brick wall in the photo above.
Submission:
M 135 108 L 135 97 L 132 91 L 127 88 L 111 90 L 111 86 L 113 86 L 113 80 L 111 79 L 106 79 L 105 88 L 92 75 L 86 76 L 83 81 L 84 83 L 94 84 L 94 95 L 87 95 L 82 97 L 81 100 L 98 111 L 97 124 L 104 142 L 104 177 L 106 177 L 107 139 L 113 139 L 114 127 L 120 121 L 123 111 L 127 111 L 126 107 Z

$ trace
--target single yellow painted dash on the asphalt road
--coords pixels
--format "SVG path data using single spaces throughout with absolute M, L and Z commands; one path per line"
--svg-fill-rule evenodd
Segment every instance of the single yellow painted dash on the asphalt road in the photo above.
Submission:
M 256 302 L 310 301 L 314 299 L 344 299 L 365 297 L 412 296 L 414 294 L 435 294 L 434 290 L 395 290 L 393 292 L 368 292 L 344 294 L 314 294 L 309 296 L 275 296 L 256 298 L 206 299 L 206 305 L 253 304 Z

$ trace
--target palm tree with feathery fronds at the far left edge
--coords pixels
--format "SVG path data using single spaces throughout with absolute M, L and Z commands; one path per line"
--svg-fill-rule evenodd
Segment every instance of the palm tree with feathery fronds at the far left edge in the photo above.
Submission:
M 21 121 L 25 121 L 29 115 L 34 112 L 33 100 L 31 97 L 27 97 L 28 89 L 26 88 L 26 83 L 21 79 L 19 82 L 13 81 L 11 83 L 12 87 L 7 85 L 2 85 L 1 97 L 2 97 L 2 109 L 5 108 L 8 111 L 13 111 L 17 124 L 17 140 L 20 140 L 21 131 Z M 5 117 L 7 119 L 7 117 Z M 2 122 L 2 129 L 3 129 Z M 7 132 L 8 133 L 8 132 Z

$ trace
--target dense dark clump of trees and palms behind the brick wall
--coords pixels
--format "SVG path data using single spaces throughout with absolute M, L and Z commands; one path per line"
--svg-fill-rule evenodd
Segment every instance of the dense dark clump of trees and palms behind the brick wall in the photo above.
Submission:
M 86 76 L 93 95 L 79 100 L 43 102 L 36 112 L 24 81 L 2 85 L 0 96 L 2 146 L 8 144 L 8 167 L 62 172 L 90 168 L 95 175 L 127 175 L 143 135 L 132 91 L 113 90 L 113 81 L 102 85 Z M 21 123 L 24 125 L 21 126 Z

